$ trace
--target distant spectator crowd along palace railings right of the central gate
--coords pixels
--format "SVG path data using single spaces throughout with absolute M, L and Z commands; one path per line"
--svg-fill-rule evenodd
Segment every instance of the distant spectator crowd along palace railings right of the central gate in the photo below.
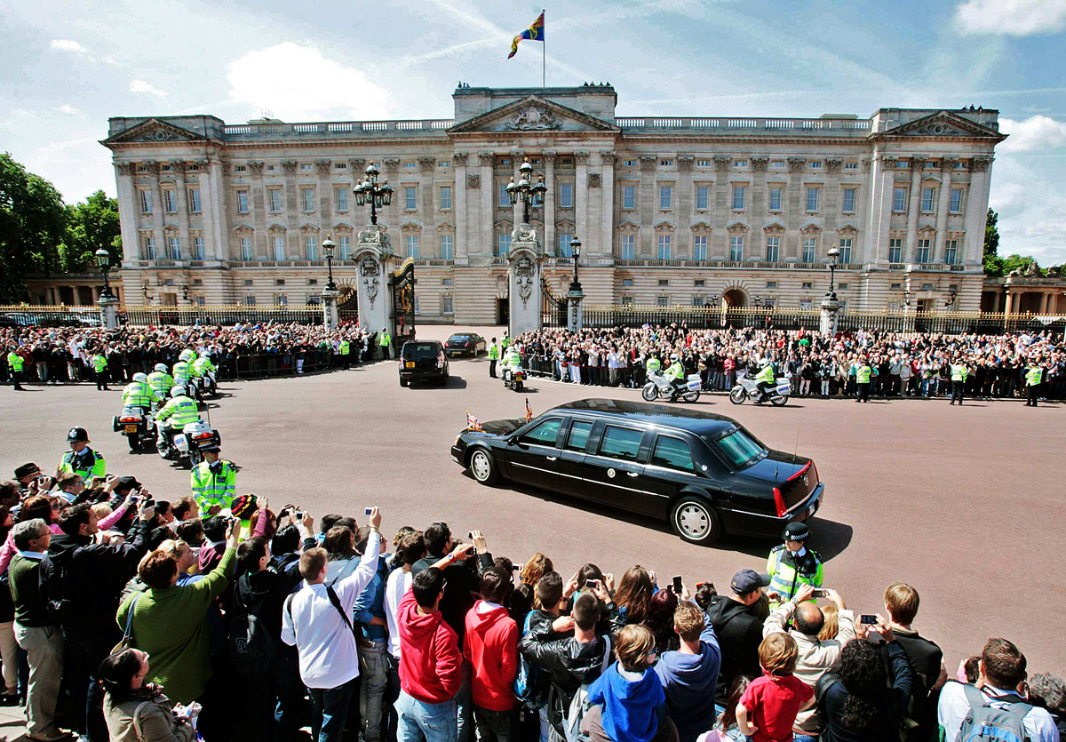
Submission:
M 860 361 L 872 367 L 871 392 L 881 397 L 943 397 L 951 393 L 951 365 L 968 368 L 966 396 L 1024 396 L 1030 364 L 1043 369 L 1040 397 L 1066 399 L 1066 344 L 1061 334 L 946 335 L 856 330 L 823 335 L 817 329 L 684 325 L 583 329 L 547 328 L 514 340 L 522 365 L 534 374 L 587 386 L 641 387 L 648 358 L 662 368 L 677 354 L 687 373 L 698 373 L 705 391 L 728 391 L 743 371 L 766 361 L 788 377 L 796 396 L 855 393 Z

